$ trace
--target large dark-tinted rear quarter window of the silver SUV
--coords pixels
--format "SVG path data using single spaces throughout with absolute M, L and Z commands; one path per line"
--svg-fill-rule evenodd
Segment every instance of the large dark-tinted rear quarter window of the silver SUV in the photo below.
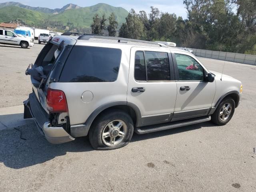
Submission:
M 114 82 L 121 55 L 120 49 L 74 46 L 59 82 Z

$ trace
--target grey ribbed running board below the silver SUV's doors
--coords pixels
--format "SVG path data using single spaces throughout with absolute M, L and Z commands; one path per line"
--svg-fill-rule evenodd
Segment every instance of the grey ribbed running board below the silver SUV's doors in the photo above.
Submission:
M 146 134 L 146 133 L 152 133 L 152 132 L 157 132 L 157 131 L 162 131 L 167 129 L 173 129 L 177 127 L 187 126 L 187 125 L 198 124 L 198 123 L 202 123 L 210 120 L 211 120 L 211 116 L 204 116 L 200 118 L 193 118 L 193 119 L 175 121 L 175 122 L 158 124 L 158 125 L 137 127 L 134 129 L 134 132 L 136 132 L 137 134 Z

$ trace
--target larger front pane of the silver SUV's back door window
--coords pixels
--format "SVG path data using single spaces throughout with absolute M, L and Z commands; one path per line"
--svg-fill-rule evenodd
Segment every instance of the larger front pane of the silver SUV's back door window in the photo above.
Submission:
M 148 81 L 170 80 L 168 53 L 145 51 Z

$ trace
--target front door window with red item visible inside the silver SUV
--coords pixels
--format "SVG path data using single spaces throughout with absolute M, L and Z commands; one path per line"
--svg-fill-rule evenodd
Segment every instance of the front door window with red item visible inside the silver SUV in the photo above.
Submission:
M 182 81 L 203 81 L 204 68 L 194 58 L 183 55 L 175 54 L 175 58 L 179 70 L 179 80 Z

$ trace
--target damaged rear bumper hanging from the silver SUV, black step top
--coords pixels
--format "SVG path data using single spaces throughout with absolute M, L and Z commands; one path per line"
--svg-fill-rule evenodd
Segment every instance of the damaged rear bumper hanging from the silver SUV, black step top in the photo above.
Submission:
M 61 126 L 51 126 L 48 114 L 38 102 L 35 93 L 29 95 L 24 101 L 24 118 L 34 118 L 38 130 L 52 144 L 61 144 L 75 140 Z

